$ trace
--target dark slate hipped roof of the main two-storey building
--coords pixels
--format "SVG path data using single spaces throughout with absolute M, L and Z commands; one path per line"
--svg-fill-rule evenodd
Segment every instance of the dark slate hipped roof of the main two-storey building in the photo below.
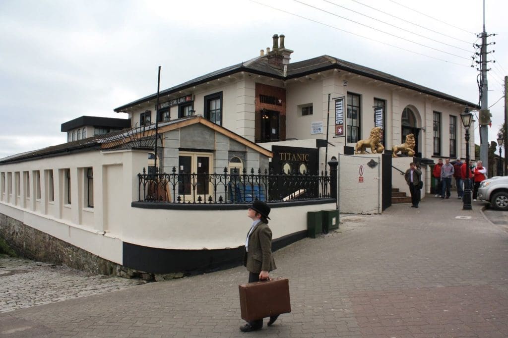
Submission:
M 474 107 L 474 108 L 480 108 L 477 104 L 467 102 L 464 99 L 448 95 L 446 93 L 421 86 L 419 84 L 416 84 L 414 82 L 410 82 L 401 78 L 398 78 L 396 76 L 390 75 L 388 73 L 380 72 L 375 69 L 362 66 L 360 64 L 356 64 L 353 62 L 348 62 L 345 60 L 341 60 L 339 58 L 329 56 L 329 55 L 322 55 L 318 57 L 314 57 L 311 59 L 299 61 L 299 62 L 293 62 L 288 64 L 287 74 L 284 77 L 284 73 L 282 69 L 279 69 L 271 64 L 268 63 L 268 60 L 263 56 L 258 56 L 256 58 L 253 58 L 251 60 L 234 64 L 229 67 L 225 67 L 223 69 L 217 70 L 212 73 L 205 74 L 203 76 L 200 76 L 198 78 L 195 78 L 193 80 L 181 83 L 179 85 L 173 86 L 171 88 L 162 90 L 160 92 L 160 95 L 169 95 L 172 93 L 176 93 L 180 90 L 188 89 L 190 87 L 206 83 L 208 81 L 212 81 L 215 79 L 219 79 L 224 76 L 232 75 L 235 73 L 240 72 L 247 72 L 252 74 L 258 74 L 268 77 L 273 77 L 280 80 L 290 80 L 293 78 L 298 78 L 305 75 L 310 75 L 317 72 L 323 72 L 327 70 L 337 69 L 341 71 L 351 72 L 354 74 L 362 75 L 371 79 L 383 81 L 386 83 L 394 84 L 397 86 L 401 86 L 404 88 L 416 90 L 425 94 L 430 94 L 439 98 L 447 99 L 452 102 Z M 115 112 L 124 112 L 126 109 L 135 106 L 137 104 L 141 104 L 144 102 L 147 102 L 149 100 L 152 100 L 156 98 L 156 93 L 142 97 L 140 99 L 137 99 L 131 103 L 128 103 L 126 105 L 120 106 L 116 109 L 114 109 Z

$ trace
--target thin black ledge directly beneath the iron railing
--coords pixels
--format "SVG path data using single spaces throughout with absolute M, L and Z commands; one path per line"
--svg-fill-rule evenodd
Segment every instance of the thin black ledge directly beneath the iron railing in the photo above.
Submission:
M 268 202 L 270 208 L 287 208 L 299 206 L 311 206 L 318 204 L 336 203 L 335 198 L 312 198 L 297 199 L 288 202 Z M 142 209 L 169 209 L 169 210 L 241 210 L 247 209 L 250 203 L 168 203 L 168 202 L 131 202 L 131 207 Z

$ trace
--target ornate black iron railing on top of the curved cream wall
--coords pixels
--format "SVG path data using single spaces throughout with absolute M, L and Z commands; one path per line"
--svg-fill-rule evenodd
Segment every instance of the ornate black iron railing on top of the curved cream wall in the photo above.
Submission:
M 139 201 L 167 203 L 230 204 L 253 200 L 288 201 L 330 197 L 330 176 L 262 173 L 251 169 L 250 174 L 172 173 L 147 174 L 139 178 Z

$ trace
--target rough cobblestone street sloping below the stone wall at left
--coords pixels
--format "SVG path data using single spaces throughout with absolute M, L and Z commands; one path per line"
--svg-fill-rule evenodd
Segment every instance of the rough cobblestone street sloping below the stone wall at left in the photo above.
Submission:
M 144 283 L 137 279 L 89 275 L 67 266 L 0 256 L 0 313 Z

